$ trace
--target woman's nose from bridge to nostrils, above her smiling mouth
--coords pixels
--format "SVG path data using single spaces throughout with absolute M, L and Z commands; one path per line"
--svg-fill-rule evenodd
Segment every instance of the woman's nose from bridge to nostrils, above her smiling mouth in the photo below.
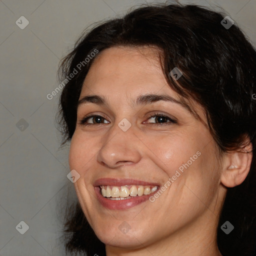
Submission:
M 132 126 L 123 131 L 115 124 L 102 138 L 102 147 L 97 154 L 97 160 L 109 168 L 137 163 L 141 158 L 139 143 L 140 140 L 132 132 Z

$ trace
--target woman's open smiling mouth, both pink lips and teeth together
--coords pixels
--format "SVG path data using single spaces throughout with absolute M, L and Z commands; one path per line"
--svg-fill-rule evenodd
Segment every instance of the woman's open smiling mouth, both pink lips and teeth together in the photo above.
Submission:
M 159 189 L 156 183 L 134 179 L 98 179 L 94 189 L 98 201 L 108 209 L 127 209 L 149 199 Z

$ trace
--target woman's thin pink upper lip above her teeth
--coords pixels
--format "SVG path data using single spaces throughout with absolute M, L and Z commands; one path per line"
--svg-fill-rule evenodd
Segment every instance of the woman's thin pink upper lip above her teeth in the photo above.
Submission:
M 97 179 L 93 186 L 99 185 L 109 185 L 109 186 L 124 186 L 124 185 L 154 185 L 159 186 L 158 183 L 148 182 L 138 179 L 131 178 L 99 178 Z

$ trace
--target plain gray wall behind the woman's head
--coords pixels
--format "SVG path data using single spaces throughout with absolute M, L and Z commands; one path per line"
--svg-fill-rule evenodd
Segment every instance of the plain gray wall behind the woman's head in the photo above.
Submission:
M 46 95 L 85 27 L 146 2 L 163 1 L 0 0 L 0 255 L 64 255 L 61 205 L 76 197 L 66 177 L 68 144 L 59 149 L 54 120 L 60 93 Z M 221 6 L 255 45 L 255 0 L 180 2 Z M 15 24 L 22 15 L 24 29 Z M 24 234 L 15 229 L 21 220 Z

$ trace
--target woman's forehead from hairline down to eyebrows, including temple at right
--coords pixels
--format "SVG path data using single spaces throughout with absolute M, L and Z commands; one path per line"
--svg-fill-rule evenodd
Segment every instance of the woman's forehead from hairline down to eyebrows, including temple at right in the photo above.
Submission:
M 133 107 L 138 95 L 164 94 L 171 96 L 173 102 L 182 101 L 196 118 L 205 119 L 202 106 L 193 99 L 185 100 L 169 86 L 160 54 L 160 49 L 148 46 L 115 46 L 103 50 L 91 64 L 79 98 L 97 94 L 115 106 L 127 103 Z

